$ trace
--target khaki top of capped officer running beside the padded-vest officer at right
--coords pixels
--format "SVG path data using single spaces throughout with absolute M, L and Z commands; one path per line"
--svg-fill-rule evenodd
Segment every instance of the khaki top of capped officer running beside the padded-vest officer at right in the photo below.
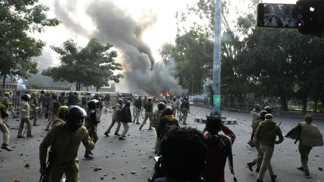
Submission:
M 265 119 L 260 122 L 256 132 L 254 133 L 256 139 L 259 140 L 261 145 L 274 146 L 276 137 L 279 137 L 278 143 L 283 141 L 282 132 L 279 125 L 271 119 Z

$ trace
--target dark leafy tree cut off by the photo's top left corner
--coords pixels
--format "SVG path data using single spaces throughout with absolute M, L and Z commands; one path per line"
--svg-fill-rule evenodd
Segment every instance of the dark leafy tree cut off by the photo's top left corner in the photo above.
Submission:
M 45 43 L 31 38 L 27 32 L 42 32 L 44 27 L 57 26 L 60 21 L 48 19 L 47 6 L 36 5 L 38 0 L 0 1 L 0 76 L 3 85 L 7 76 L 12 80 L 37 74 L 37 63 L 32 57 L 40 56 Z

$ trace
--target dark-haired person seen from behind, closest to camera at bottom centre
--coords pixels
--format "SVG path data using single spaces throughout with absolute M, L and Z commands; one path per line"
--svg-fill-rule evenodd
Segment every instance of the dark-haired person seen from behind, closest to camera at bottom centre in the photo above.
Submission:
M 149 181 L 204 181 L 201 173 L 205 167 L 206 153 L 204 136 L 198 130 L 170 130 L 161 141 L 161 157 Z

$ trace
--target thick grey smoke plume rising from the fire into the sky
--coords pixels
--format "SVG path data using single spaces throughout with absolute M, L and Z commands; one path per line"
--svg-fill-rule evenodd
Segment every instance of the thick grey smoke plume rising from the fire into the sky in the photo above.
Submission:
M 86 32 L 73 23 L 67 11 L 70 9 L 55 2 L 55 12 L 65 26 L 75 32 Z M 184 95 L 188 92 L 173 77 L 175 64 L 168 67 L 163 63 L 154 64 L 150 47 L 142 41 L 143 32 L 156 22 L 154 13 L 143 15 L 141 23 L 137 23 L 111 1 L 91 2 L 86 6 L 85 12 L 91 17 L 97 29 L 92 34 L 83 35 L 96 38 L 102 43 L 113 43 L 122 52 L 124 79 L 121 82 L 124 82 L 122 85 L 127 86 L 130 92 L 132 88 L 155 95 L 167 91 L 175 95 Z

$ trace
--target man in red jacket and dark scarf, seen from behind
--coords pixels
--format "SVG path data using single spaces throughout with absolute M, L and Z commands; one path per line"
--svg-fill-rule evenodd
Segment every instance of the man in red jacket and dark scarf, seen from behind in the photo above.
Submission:
M 224 168 L 227 158 L 230 164 L 230 171 L 234 175 L 231 147 L 236 136 L 222 123 L 221 118 L 218 116 L 207 118 L 206 129 L 208 132 L 205 135 L 207 157 L 206 167 L 202 176 L 206 182 L 225 182 Z M 219 135 L 220 131 L 223 131 L 225 135 Z M 236 181 L 235 177 L 234 181 Z

